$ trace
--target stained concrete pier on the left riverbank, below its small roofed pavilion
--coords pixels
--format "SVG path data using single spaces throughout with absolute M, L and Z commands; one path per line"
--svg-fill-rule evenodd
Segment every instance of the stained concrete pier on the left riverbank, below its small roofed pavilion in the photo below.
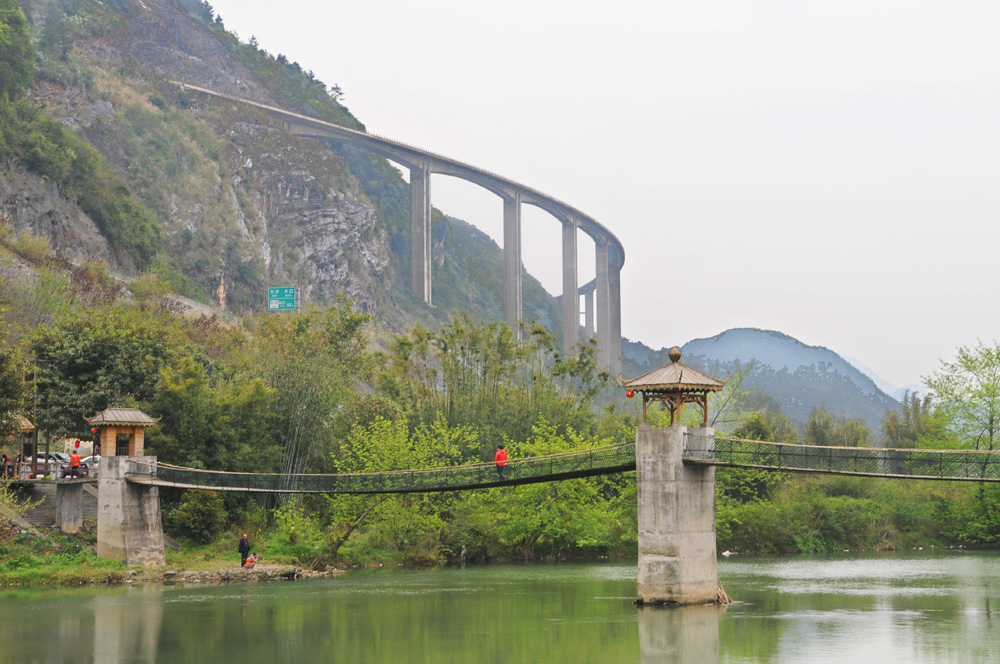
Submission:
M 129 565 L 165 565 L 160 490 L 125 480 L 129 461 L 156 457 L 101 458 L 97 482 L 97 555 Z

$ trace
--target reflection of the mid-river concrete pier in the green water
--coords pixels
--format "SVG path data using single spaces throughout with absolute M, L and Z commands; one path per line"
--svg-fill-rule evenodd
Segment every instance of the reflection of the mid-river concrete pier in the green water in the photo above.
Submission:
M 717 664 L 723 606 L 640 607 L 641 664 Z

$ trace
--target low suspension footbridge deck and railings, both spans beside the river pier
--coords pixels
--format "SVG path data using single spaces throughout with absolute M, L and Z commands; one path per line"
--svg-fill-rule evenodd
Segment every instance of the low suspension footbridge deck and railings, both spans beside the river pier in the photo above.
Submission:
M 1000 482 L 1000 451 L 816 447 L 688 434 L 684 463 L 897 479 Z M 195 470 L 129 461 L 137 484 L 266 493 L 417 493 L 553 482 L 634 471 L 635 443 L 492 463 L 382 473 L 278 475 Z

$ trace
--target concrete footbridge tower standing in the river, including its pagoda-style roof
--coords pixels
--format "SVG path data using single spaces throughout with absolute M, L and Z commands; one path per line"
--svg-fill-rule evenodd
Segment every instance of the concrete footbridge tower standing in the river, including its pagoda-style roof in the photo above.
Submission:
M 685 437 L 697 436 L 712 449 L 708 426 L 708 393 L 725 385 L 681 364 L 678 348 L 671 363 L 625 381 L 629 396 L 642 395 L 642 424 L 636 431 L 635 463 L 639 502 L 639 570 L 637 604 L 704 604 L 718 597 L 715 557 L 715 468 L 684 465 Z M 649 404 L 659 401 L 670 411 L 670 426 L 646 421 Z M 688 431 L 676 418 L 685 403 L 701 406 L 703 424 Z

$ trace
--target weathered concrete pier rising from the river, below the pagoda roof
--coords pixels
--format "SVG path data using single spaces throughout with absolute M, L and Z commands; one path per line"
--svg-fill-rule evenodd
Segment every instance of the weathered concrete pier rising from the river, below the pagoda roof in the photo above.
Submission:
M 639 502 L 637 604 L 715 602 L 715 468 L 681 461 L 687 427 L 639 425 L 635 462 Z M 712 428 L 692 435 L 714 442 Z

